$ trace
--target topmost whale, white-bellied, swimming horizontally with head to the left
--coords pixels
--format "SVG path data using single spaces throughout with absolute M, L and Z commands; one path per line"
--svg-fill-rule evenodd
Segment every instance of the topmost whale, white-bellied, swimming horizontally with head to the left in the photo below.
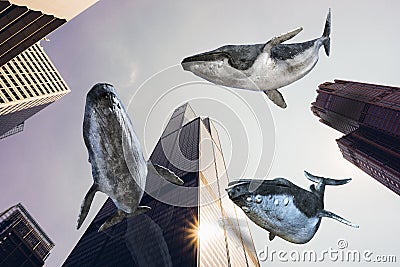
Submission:
M 283 44 L 302 30 L 299 27 L 262 44 L 225 45 L 187 57 L 181 65 L 184 70 L 217 85 L 263 91 L 276 105 L 286 108 L 277 89 L 309 73 L 318 62 L 321 46 L 329 56 L 331 10 L 321 37 L 303 43 Z

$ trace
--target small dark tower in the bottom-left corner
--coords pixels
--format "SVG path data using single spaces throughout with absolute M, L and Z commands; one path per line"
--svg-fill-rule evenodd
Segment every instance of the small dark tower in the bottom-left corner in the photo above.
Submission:
M 53 247 L 21 204 L 0 213 L 0 266 L 43 266 Z

